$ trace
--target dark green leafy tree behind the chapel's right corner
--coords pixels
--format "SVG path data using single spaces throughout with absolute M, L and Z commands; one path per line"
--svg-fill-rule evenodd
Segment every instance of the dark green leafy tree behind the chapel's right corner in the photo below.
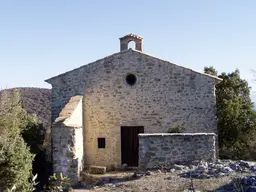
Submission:
M 218 75 L 213 67 L 204 72 Z M 221 158 L 255 159 L 252 136 L 256 133 L 256 113 L 250 99 L 250 87 L 241 79 L 239 70 L 218 75 L 223 79 L 216 85 L 216 107 Z

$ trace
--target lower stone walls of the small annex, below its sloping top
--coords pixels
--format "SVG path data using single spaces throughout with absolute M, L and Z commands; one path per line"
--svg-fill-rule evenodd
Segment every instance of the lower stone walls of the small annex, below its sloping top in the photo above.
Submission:
M 83 129 L 82 127 L 52 127 L 53 172 L 69 177 L 71 184 L 80 180 L 83 168 Z

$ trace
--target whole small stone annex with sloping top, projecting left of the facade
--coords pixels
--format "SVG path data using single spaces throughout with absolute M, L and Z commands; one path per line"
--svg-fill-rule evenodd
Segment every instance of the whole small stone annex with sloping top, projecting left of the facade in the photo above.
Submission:
M 74 96 L 65 105 L 52 126 L 53 171 L 80 179 L 83 169 L 82 97 Z

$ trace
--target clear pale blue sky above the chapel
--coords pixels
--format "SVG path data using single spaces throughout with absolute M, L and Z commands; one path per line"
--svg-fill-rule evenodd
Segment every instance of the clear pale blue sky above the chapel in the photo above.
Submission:
M 144 37 L 144 51 L 203 71 L 238 68 L 256 92 L 255 0 L 0 0 L 0 88 L 47 87 L 45 79 Z

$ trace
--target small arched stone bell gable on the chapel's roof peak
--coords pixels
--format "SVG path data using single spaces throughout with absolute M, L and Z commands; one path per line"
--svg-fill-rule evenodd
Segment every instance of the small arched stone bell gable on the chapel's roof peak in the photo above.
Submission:
M 142 48 L 143 48 L 143 38 L 142 37 L 131 33 L 131 34 L 121 37 L 119 39 L 120 39 L 120 51 L 126 51 L 128 49 L 128 44 L 131 41 L 134 41 L 136 50 L 142 51 Z

